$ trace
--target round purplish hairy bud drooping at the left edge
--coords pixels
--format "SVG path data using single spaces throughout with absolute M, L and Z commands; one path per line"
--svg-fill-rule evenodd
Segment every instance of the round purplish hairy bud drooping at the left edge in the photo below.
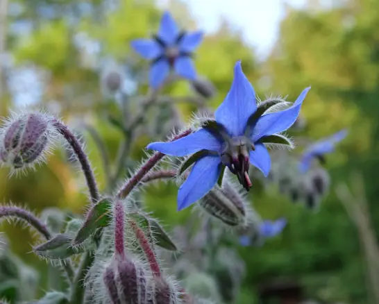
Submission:
M 42 113 L 15 117 L 1 130 L 0 160 L 22 169 L 44 160 L 52 140 L 50 119 Z

